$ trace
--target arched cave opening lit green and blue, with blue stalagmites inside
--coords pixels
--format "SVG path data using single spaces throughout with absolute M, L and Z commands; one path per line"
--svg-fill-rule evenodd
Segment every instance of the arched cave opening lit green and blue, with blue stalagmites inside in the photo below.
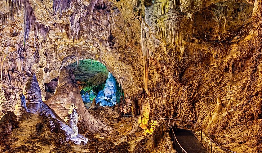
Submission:
M 114 106 L 120 102 L 121 86 L 106 66 L 92 59 L 80 60 L 67 66 L 75 75 L 75 80 L 87 108 L 92 101 L 100 106 Z

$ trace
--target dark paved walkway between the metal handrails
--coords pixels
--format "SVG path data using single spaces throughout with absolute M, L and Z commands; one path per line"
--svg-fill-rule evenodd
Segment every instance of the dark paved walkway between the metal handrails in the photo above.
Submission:
M 175 136 L 187 153 L 208 153 L 206 148 L 202 146 L 201 142 L 194 136 L 193 131 L 178 128 L 177 131 L 175 131 Z M 172 141 L 174 140 L 172 139 Z M 177 143 L 175 144 L 175 149 L 178 153 L 182 153 L 182 149 Z

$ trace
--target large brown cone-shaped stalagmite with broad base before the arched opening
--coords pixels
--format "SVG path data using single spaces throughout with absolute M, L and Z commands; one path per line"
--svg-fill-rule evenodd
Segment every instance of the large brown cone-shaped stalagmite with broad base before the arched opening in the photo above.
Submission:
M 105 124 L 99 119 L 96 119 L 86 109 L 78 85 L 71 80 L 72 76 L 69 76 L 69 71 L 66 67 L 61 69 L 56 92 L 54 96 L 45 101 L 45 103 L 50 106 L 61 119 L 67 117 L 71 104 L 74 104 L 78 108 L 76 110 L 78 115 L 82 115 L 83 120 L 85 120 L 87 129 L 91 132 L 101 132 L 102 130 L 108 132 L 110 128 L 107 128 Z

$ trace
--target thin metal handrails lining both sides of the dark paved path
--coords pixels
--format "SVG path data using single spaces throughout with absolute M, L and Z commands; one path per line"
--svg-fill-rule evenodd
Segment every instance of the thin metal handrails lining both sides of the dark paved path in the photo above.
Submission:
M 170 125 L 170 120 L 178 120 L 178 121 L 182 121 L 182 128 L 184 129 L 184 123 L 183 123 L 183 121 L 188 121 L 188 122 L 193 122 L 194 123 L 194 134 L 195 134 L 195 132 L 196 132 L 196 124 L 198 125 L 198 127 L 200 128 L 200 130 L 201 130 L 201 143 L 202 143 L 202 133 L 204 133 L 204 130 L 201 128 L 201 126 L 198 124 L 198 122 L 196 122 L 196 121 L 193 121 L 193 120 L 186 120 L 186 119 L 172 119 L 172 118 L 154 118 L 154 119 L 167 119 L 168 120 L 168 122 L 169 122 L 169 125 Z M 190 129 L 191 130 L 191 129 Z M 173 131 L 173 128 L 172 128 L 172 131 Z M 174 131 L 173 131 L 174 132 Z M 222 146 L 220 146 L 219 144 L 217 144 L 214 140 L 212 140 L 211 139 L 211 137 L 209 137 L 209 136 L 207 136 L 207 134 L 206 133 L 204 133 L 205 135 L 206 135 L 206 137 L 208 137 L 209 138 L 209 140 L 210 140 L 210 145 L 211 145 L 211 147 L 210 147 L 210 151 L 211 151 L 211 153 L 213 153 L 212 152 L 212 142 L 213 143 L 215 143 L 217 146 L 219 146 L 220 147 L 220 149 L 222 149 L 222 150 L 224 150 L 224 151 L 229 151 L 229 152 L 232 152 L 232 153 L 237 153 L 237 152 L 234 152 L 234 151 L 231 151 L 231 150 L 229 150 L 229 149 L 226 149 L 226 148 L 224 148 L 224 147 L 222 147 Z M 175 133 L 174 133 L 174 135 L 175 135 Z M 179 144 L 179 143 L 178 143 Z M 180 144 L 179 144 L 180 145 Z M 180 146 L 181 148 L 182 148 L 182 146 Z M 182 148 L 182 150 L 183 150 L 183 148 Z

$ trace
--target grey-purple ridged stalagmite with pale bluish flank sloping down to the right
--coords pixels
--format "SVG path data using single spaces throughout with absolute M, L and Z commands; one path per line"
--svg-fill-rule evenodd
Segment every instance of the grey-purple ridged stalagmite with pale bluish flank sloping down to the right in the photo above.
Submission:
M 59 116 L 56 115 L 54 110 L 47 106 L 39 96 L 41 96 L 41 90 L 38 85 L 35 74 L 32 74 L 26 82 L 23 94 L 27 102 L 27 108 L 30 113 L 38 114 L 41 116 L 54 118 L 60 123 L 60 128 L 65 131 L 68 139 L 72 140 L 75 144 L 80 145 L 81 142 L 87 143 L 88 139 L 80 134 L 76 134 L 72 128 L 69 127 Z M 53 124 L 50 122 L 51 128 Z

